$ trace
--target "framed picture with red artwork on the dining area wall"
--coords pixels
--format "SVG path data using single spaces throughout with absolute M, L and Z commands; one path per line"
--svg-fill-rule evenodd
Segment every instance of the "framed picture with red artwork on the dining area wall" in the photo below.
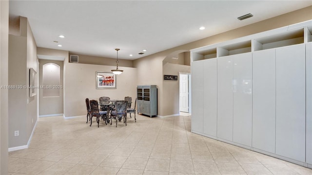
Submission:
M 116 74 L 113 72 L 104 72 L 97 71 L 96 72 L 96 88 L 117 88 L 116 86 Z

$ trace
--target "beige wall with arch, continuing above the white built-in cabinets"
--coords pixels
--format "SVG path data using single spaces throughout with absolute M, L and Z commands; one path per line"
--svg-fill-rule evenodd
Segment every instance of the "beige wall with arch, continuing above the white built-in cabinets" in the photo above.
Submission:
M 138 72 L 138 85 L 141 84 L 150 84 L 150 85 L 157 85 L 158 87 L 158 115 L 166 116 L 166 115 L 173 115 L 168 114 L 167 111 L 164 110 L 166 106 L 164 104 L 165 101 L 168 99 L 168 94 L 174 94 L 174 91 L 178 91 L 178 88 L 171 89 L 171 88 L 164 88 L 162 77 L 163 74 L 160 73 L 162 71 L 162 61 L 168 55 L 178 52 L 178 51 L 190 51 L 191 49 L 207 46 L 210 44 L 215 44 L 222 41 L 231 40 L 234 38 L 247 36 L 256 34 L 259 32 L 264 32 L 272 29 L 276 29 L 279 27 L 284 27 L 287 25 L 307 21 L 312 19 L 312 6 L 296 10 L 281 16 L 277 16 L 274 18 L 270 18 L 267 20 L 263 20 L 251 25 L 247 25 L 241 28 L 237 28 L 225 33 L 221 33 L 218 35 L 210 36 L 201 40 L 197 40 L 185 45 L 181 45 L 175 48 L 168 49 L 166 51 L 162 51 L 159 53 L 155 53 L 137 60 L 134 60 L 134 67 L 137 68 Z M 153 68 L 150 68 L 153 65 Z M 150 71 L 149 71 L 150 68 Z

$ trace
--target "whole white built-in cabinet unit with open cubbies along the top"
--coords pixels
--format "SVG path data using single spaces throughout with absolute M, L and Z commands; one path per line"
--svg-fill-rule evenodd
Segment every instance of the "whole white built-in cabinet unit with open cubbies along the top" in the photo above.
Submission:
M 191 50 L 192 132 L 312 168 L 312 21 Z

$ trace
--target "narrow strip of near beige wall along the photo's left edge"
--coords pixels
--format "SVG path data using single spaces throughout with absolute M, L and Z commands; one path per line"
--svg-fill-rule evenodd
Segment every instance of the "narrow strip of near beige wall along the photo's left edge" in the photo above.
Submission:
M 9 1 L 0 0 L 0 85 L 8 85 Z M 0 89 L 0 174 L 8 174 L 8 89 Z

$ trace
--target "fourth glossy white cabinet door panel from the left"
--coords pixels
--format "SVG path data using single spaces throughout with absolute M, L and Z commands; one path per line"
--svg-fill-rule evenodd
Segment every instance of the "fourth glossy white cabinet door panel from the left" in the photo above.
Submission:
M 252 53 L 233 57 L 233 141 L 252 145 Z

